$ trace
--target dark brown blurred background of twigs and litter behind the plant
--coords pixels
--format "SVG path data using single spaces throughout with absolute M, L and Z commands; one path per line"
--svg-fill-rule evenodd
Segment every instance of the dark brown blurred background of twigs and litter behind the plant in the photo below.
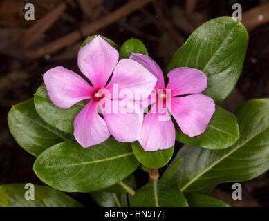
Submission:
M 0 1 L 0 184 L 41 184 L 32 170 L 35 157 L 12 138 L 6 117 L 12 105 L 33 97 L 49 68 L 78 71 L 77 50 L 86 35 L 101 34 L 119 45 L 138 38 L 165 69 L 196 27 L 214 17 L 231 16 L 232 4 L 241 3 L 250 42 L 239 82 L 221 105 L 234 111 L 246 99 L 268 97 L 269 1 L 147 0 L 146 6 L 143 1 Z M 24 20 L 24 5 L 29 2 L 35 6 L 35 21 Z M 257 19 L 259 15 L 263 21 Z M 136 175 L 138 186 L 147 182 L 142 171 Z M 212 195 L 232 206 L 269 206 L 269 173 L 242 184 L 241 201 L 232 200 L 232 184 L 219 185 Z M 88 206 L 94 204 L 88 194 L 74 193 L 73 197 Z

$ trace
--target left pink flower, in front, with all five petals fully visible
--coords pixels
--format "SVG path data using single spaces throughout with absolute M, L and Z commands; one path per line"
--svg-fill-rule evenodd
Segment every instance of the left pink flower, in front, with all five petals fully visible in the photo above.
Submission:
M 98 105 L 109 99 L 111 106 L 121 106 L 123 103 L 115 96 L 113 85 L 119 91 L 128 89 L 145 89 L 142 98 L 146 99 L 156 84 L 156 77 L 149 73 L 138 62 L 122 59 L 118 62 L 118 51 L 102 37 L 95 37 L 89 44 L 80 49 L 77 63 L 81 72 L 91 81 L 91 86 L 80 75 L 63 67 L 48 70 L 43 79 L 53 104 L 59 108 L 70 108 L 84 99 L 91 99 L 77 114 L 74 120 L 74 136 L 83 147 L 89 147 L 104 142 L 113 135 L 120 142 L 133 142 L 140 138 L 143 113 L 102 113 L 98 114 Z M 118 64 L 117 64 L 118 63 Z M 113 71 L 114 70 L 114 71 Z M 113 72 L 113 76 L 111 74 Z M 109 84 L 106 84 L 111 77 Z M 106 97 L 106 94 L 113 94 Z M 104 96 L 105 95 L 105 96 Z M 129 100 L 133 104 L 133 100 Z

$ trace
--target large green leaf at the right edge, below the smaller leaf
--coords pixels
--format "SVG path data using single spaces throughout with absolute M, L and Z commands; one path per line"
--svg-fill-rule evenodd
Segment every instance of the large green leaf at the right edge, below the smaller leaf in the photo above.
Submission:
M 239 140 L 223 150 L 183 146 L 174 162 L 182 164 L 171 176 L 181 191 L 209 194 L 222 182 L 251 180 L 269 169 L 269 99 L 252 99 L 235 115 Z

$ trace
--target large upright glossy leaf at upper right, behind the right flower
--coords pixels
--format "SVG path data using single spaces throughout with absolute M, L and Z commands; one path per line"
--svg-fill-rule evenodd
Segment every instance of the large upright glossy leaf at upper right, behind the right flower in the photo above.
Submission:
M 219 103 L 239 79 L 247 46 L 248 32 L 239 20 L 212 19 L 197 28 L 176 51 L 167 71 L 180 66 L 202 70 L 208 81 L 205 95 Z

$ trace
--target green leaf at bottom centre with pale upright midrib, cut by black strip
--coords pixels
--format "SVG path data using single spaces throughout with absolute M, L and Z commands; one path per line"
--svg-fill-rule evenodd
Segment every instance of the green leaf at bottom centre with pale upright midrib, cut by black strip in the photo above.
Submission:
M 131 207 L 187 207 L 187 200 L 171 182 L 150 182 L 134 195 Z

